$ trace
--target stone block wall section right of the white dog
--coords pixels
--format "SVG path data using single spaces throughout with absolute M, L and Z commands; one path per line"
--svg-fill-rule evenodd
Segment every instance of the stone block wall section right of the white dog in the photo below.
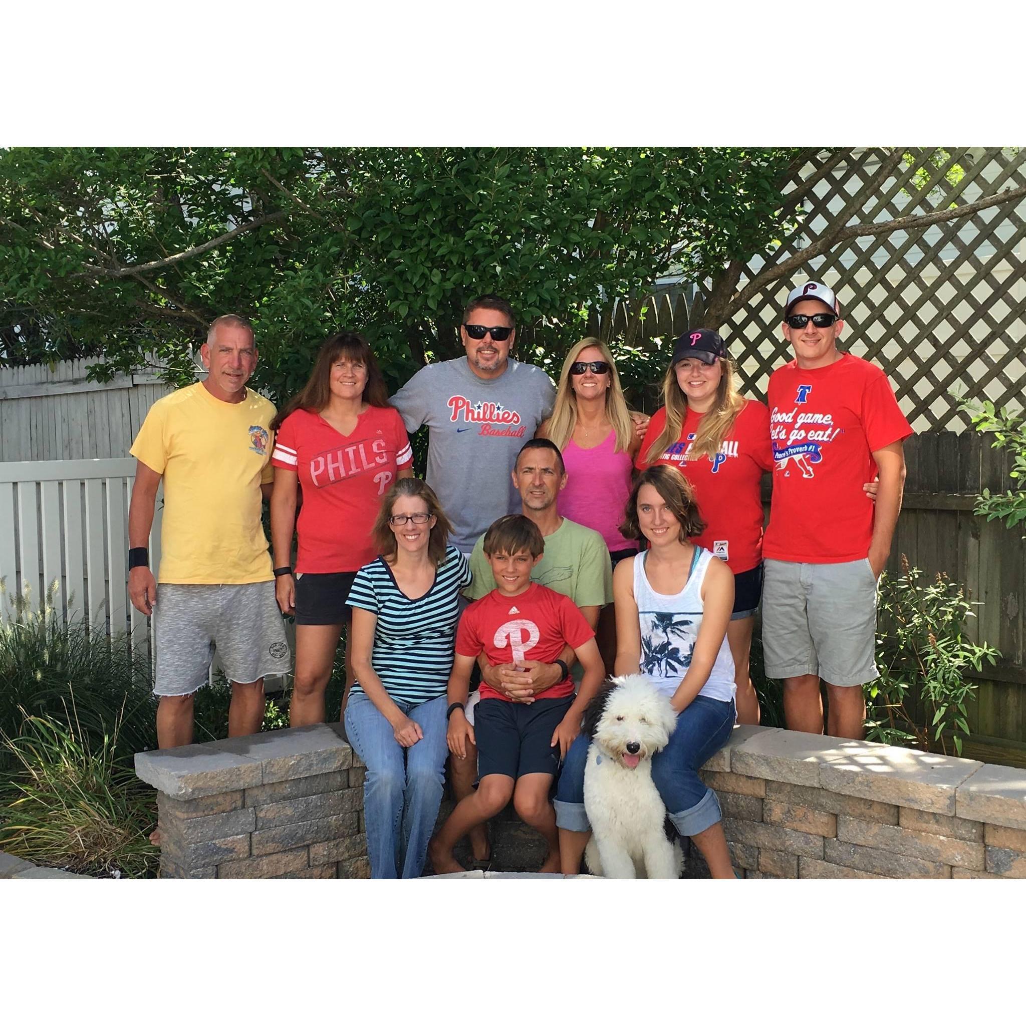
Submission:
M 1026 878 L 1023 770 L 739 726 L 702 773 L 748 878 Z

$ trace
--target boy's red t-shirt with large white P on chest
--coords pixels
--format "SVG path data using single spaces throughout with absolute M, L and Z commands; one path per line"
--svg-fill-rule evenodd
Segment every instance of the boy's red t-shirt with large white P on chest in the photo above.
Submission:
M 492 666 L 520 665 L 525 659 L 553 663 L 563 645 L 580 648 L 595 632 L 584 615 L 565 595 L 544 585 L 531 584 L 522 594 L 510 597 L 498 588 L 464 610 L 456 632 L 456 650 L 476 659 L 483 650 Z M 481 700 L 505 695 L 481 681 Z M 574 694 L 574 681 L 566 677 L 542 692 L 539 699 L 561 699 Z

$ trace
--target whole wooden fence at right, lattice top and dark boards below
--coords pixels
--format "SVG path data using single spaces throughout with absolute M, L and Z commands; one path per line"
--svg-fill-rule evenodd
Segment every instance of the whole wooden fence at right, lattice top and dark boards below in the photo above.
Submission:
M 908 155 L 906 159 L 905 155 Z M 790 190 L 804 194 L 801 226 L 771 260 L 807 248 L 839 225 L 891 221 L 970 203 L 997 189 L 1026 185 L 1026 150 L 910 149 L 834 153 L 812 160 Z M 738 284 L 766 265 L 754 260 Z M 781 331 L 790 288 L 815 278 L 841 303 L 842 348 L 884 368 L 917 435 L 906 443 L 908 479 L 887 569 L 904 553 L 925 574 L 962 582 L 983 604 L 970 633 L 1000 648 L 971 706 L 966 754 L 1026 765 L 1026 546 L 1020 531 L 973 513 L 984 487 L 1019 487 L 1011 458 L 966 430 L 957 396 L 1023 406 L 1026 384 L 1026 200 L 1003 203 L 919 233 L 843 242 L 753 295 L 719 329 L 748 395 L 765 398 L 770 373 L 791 358 Z M 702 294 L 672 283 L 639 306 L 636 344 L 667 346 L 704 324 Z M 635 305 L 615 304 L 589 331 L 623 338 Z M 659 405 L 658 385 L 634 396 Z

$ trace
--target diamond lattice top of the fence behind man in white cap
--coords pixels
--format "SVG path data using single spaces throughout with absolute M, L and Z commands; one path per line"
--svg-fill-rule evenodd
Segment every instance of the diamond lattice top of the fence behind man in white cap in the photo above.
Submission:
M 839 226 L 944 210 L 1023 186 L 1026 150 L 1019 148 L 834 153 L 812 160 L 789 187 L 803 193 L 805 213 L 772 260 L 779 264 Z M 764 267 L 753 260 L 739 290 Z M 770 372 L 790 358 L 781 309 L 792 285 L 808 278 L 836 291 L 844 348 L 886 370 L 917 432 L 960 431 L 969 424 L 952 390 L 1021 405 L 1026 200 L 923 232 L 849 240 L 753 297 L 720 327 L 748 394 L 764 398 Z M 678 285 L 645 298 L 638 338 L 667 339 L 703 326 L 701 294 L 693 293 Z M 593 318 L 590 330 L 622 336 L 632 310 L 630 303 L 616 304 Z

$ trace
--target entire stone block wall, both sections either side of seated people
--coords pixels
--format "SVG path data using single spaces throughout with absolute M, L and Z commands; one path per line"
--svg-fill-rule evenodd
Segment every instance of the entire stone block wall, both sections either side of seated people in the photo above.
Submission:
M 136 773 L 159 792 L 161 875 L 369 875 L 365 771 L 340 732 L 305 726 L 136 755 Z M 1026 878 L 1023 770 L 739 726 L 702 773 L 735 866 L 751 879 Z M 512 868 L 499 851 L 507 832 L 494 830 L 492 869 Z M 521 861 L 534 861 L 521 840 Z M 693 845 L 686 874 L 704 871 Z

